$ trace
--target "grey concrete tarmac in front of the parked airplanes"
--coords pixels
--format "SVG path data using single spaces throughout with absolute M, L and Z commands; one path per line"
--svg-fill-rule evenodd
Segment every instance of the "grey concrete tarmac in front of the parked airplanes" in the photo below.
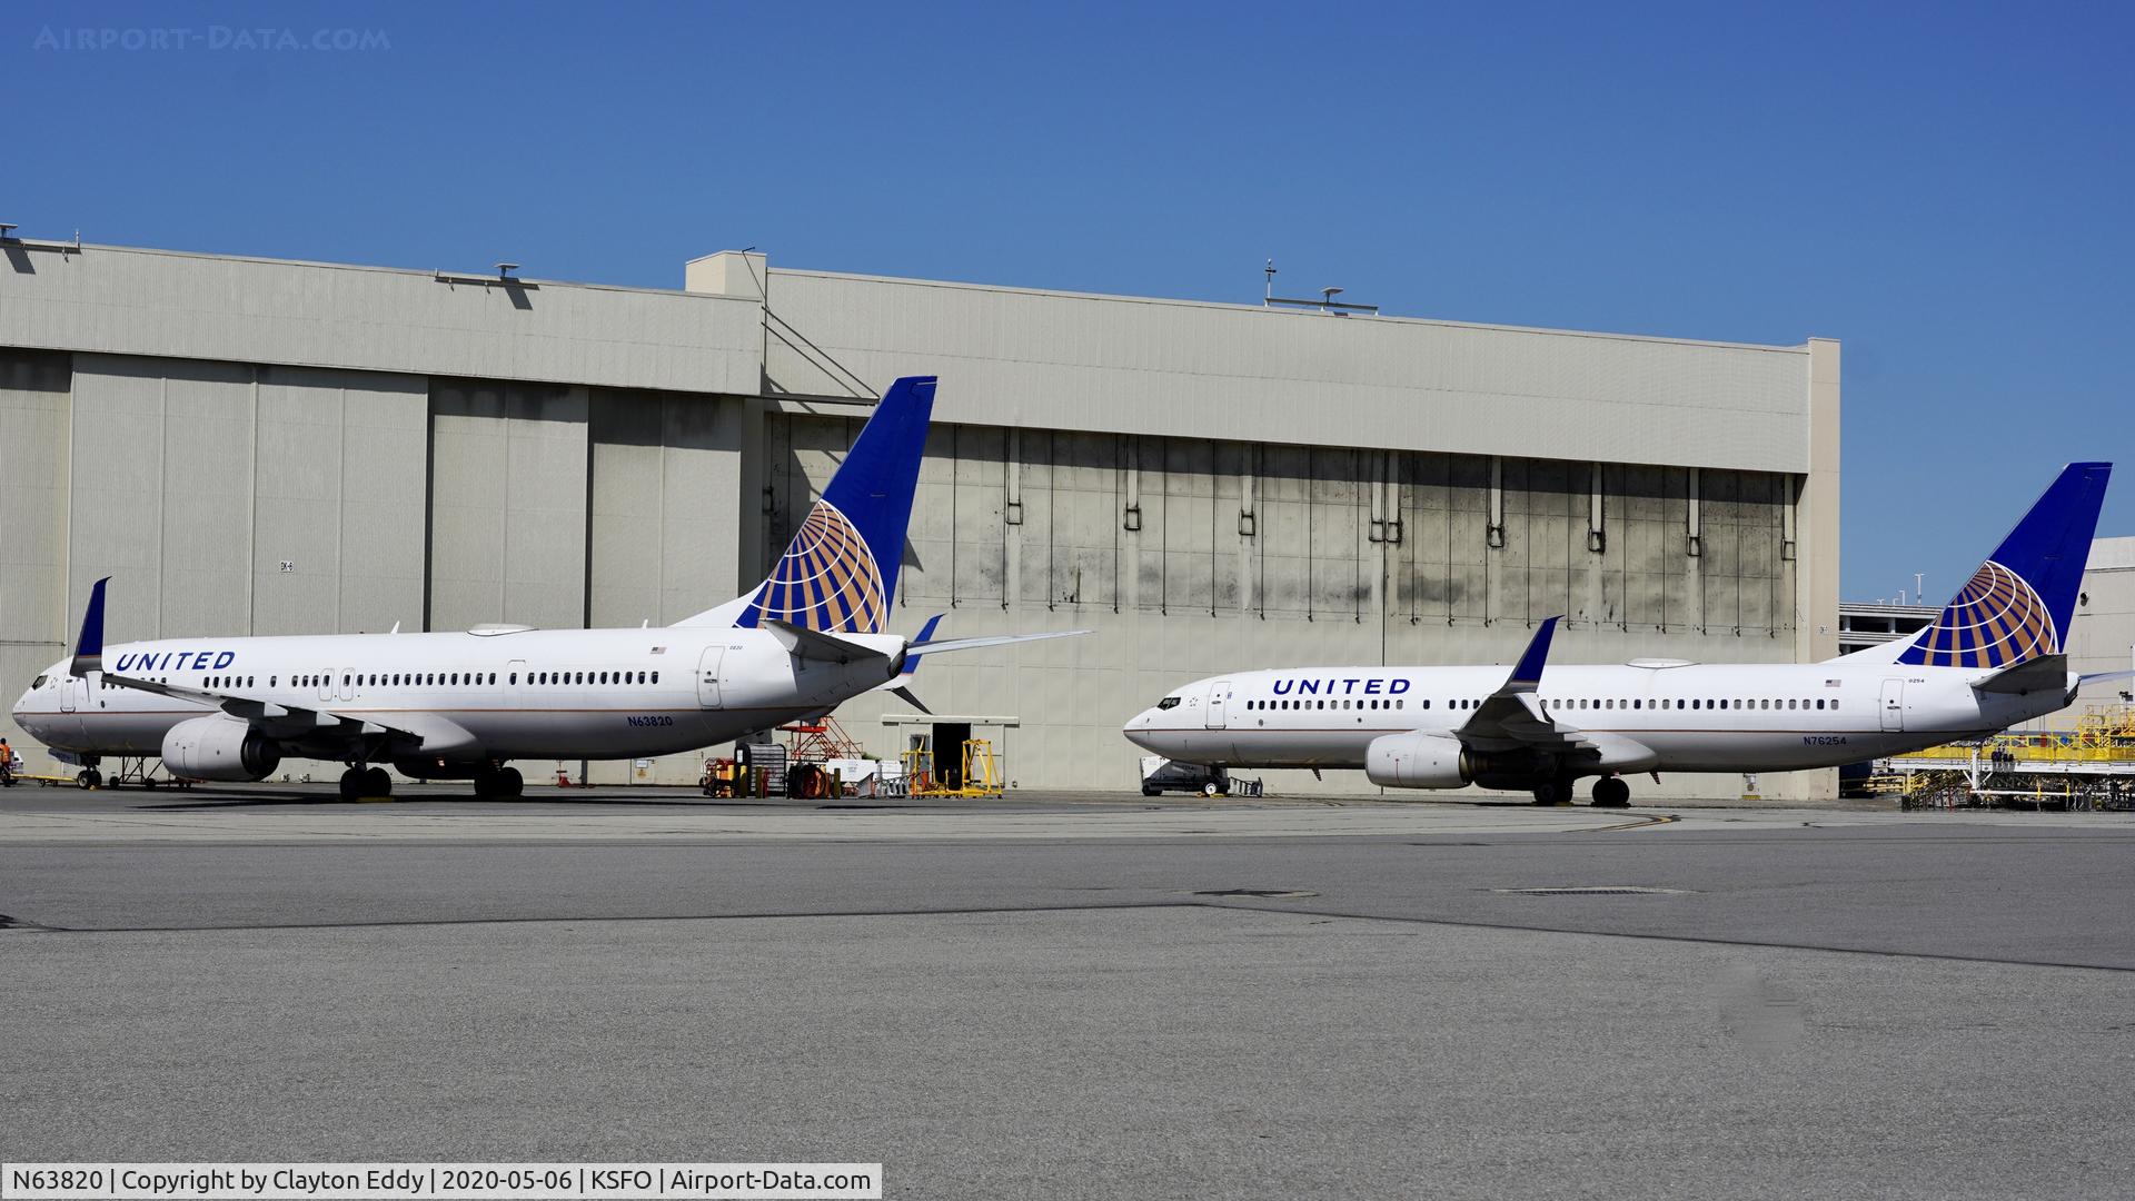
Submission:
M 700 801 L 0 793 L 0 1158 L 2135 1195 L 2124 814 Z

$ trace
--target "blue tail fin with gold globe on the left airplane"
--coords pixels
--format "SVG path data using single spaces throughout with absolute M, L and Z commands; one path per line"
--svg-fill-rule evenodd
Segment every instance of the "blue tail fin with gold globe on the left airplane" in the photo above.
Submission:
M 905 560 L 933 393 L 935 376 L 890 385 L 771 577 L 677 624 L 760 626 L 775 620 L 803 630 L 880 635 Z

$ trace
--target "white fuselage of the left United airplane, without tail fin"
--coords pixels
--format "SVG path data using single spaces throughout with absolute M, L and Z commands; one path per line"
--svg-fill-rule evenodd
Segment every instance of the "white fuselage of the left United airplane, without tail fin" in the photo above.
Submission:
M 395 757 L 634 759 L 820 714 L 895 675 L 901 637 L 841 637 L 888 658 L 818 662 L 762 628 L 666 626 L 162 639 L 107 645 L 102 662 L 117 675 L 374 722 Z M 15 720 L 75 754 L 160 754 L 175 724 L 222 712 L 113 686 L 96 671 L 70 675 L 62 660 L 23 692 Z M 303 752 L 301 731 L 284 737 Z M 322 735 L 314 757 L 342 759 L 342 746 Z

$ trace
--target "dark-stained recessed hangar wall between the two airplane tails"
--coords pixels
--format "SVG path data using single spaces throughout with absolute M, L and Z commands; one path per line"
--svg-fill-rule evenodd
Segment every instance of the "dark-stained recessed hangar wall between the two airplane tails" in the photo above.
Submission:
M 839 415 L 764 421 L 773 511 L 758 564 L 784 549 L 856 427 Z M 954 635 L 1095 630 L 929 660 L 918 692 L 942 714 L 1018 718 L 997 735 L 1014 780 L 1123 789 L 1138 752 L 1121 722 L 1225 669 L 1509 662 L 1550 615 L 1567 615 L 1567 662 L 1791 660 L 1791 487 L 1787 474 L 1699 470 L 1693 502 L 1691 468 L 937 425 L 895 626 L 939 611 Z M 839 718 L 895 754 L 907 727 L 882 716 L 897 712 L 871 695 Z M 1354 774 L 1270 778 L 1369 789 Z M 1815 784 L 1774 778 L 1766 791 Z

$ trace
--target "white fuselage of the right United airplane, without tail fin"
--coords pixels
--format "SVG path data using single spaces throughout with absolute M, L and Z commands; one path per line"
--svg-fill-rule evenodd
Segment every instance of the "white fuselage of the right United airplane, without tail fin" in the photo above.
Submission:
M 1847 662 L 1550 665 L 1535 701 L 1561 727 L 1648 748 L 1655 763 L 1638 771 L 1793 771 L 1986 735 L 2073 695 L 2073 680 L 2067 690 L 1979 692 L 1983 675 Z M 1503 682 L 1503 667 L 1238 671 L 1174 690 L 1123 733 L 1185 763 L 1364 767 L 1383 735 L 1452 737 Z

